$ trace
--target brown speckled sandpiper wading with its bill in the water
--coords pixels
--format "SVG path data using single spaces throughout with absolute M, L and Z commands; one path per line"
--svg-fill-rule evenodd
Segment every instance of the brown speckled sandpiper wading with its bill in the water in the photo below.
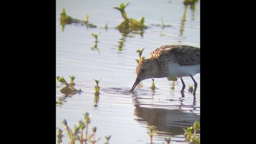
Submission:
M 194 81 L 194 98 L 197 82 L 194 75 L 200 73 L 200 48 L 188 45 L 164 45 L 151 52 L 148 58 L 140 61 L 135 70 L 137 78 L 131 91 L 137 84 L 148 78 L 178 77 L 182 90 L 186 87 L 182 77 L 190 76 Z

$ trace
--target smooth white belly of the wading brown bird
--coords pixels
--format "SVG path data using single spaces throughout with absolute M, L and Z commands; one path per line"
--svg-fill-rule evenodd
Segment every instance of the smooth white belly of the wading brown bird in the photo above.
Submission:
M 200 73 L 200 64 L 192 66 L 180 66 L 180 64 L 168 64 L 169 74 L 172 77 L 193 76 Z

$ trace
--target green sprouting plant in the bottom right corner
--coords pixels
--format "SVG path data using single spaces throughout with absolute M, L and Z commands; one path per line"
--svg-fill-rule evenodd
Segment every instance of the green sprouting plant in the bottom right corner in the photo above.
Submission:
M 196 131 L 199 129 L 199 127 L 200 127 L 200 123 L 196 120 L 194 122 L 193 126 L 187 127 L 187 129 L 182 128 L 185 132 L 184 136 L 185 136 L 185 141 L 186 142 L 191 142 L 192 141 L 193 144 L 200 144 L 200 137 L 198 137 L 198 138 L 196 137 Z M 191 133 L 192 128 L 194 128 L 193 138 L 192 138 L 192 133 Z

